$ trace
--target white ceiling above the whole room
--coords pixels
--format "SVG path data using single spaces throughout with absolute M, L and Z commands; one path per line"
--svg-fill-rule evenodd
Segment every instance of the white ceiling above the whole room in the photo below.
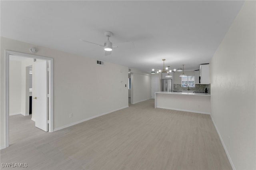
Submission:
M 209 63 L 244 1 L 1 1 L 1 36 L 150 73 Z M 133 42 L 104 56 L 110 41 Z

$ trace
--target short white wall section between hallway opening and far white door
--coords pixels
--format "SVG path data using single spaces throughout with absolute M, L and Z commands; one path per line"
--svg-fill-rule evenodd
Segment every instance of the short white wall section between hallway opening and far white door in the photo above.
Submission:
M 151 75 L 132 68 L 131 103 L 151 99 Z

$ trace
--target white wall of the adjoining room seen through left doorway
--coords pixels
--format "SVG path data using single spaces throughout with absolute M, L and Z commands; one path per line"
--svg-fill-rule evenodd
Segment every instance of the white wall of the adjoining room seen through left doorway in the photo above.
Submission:
M 21 113 L 21 61 L 10 60 L 9 67 L 9 113 Z

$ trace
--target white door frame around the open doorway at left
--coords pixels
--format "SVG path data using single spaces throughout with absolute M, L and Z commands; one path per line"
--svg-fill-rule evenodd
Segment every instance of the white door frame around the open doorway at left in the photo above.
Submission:
M 36 58 L 36 59 L 42 59 L 46 60 L 49 63 L 49 103 L 48 103 L 48 112 L 49 112 L 49 132 L 53 132 L 53 58 L 50 57 L 43 57 L 40 55 L 33 55 L 33 54 L 27 54 L 27 53 L 20 53 L 16 51 L 5 51 L 5 97 L 4 97 L 4 103 L 5 103 L 5 110 L 4 110 L 4 122 L 5 122 L 5 146 L 4 148 L 7 148 L 9 146 L 9 56 L 10 55 L 16 55 L 20 57 L 28 57 L 28 58 Z M 2 148 L 1 148 L 2 149 Z

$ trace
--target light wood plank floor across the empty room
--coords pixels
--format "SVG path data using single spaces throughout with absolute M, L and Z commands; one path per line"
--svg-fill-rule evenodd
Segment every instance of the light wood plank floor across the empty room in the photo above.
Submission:
M 0 154 L 32 170 L 232 169 L 210 115 L 154 109 L 154 99 L 53 133 L 11 116 Z

